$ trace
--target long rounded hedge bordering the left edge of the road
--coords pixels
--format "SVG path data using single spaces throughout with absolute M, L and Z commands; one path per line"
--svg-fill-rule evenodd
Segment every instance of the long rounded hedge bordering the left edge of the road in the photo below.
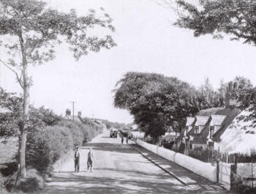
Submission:
M 90 141 L 100 131 L 101 128 L 69 120 L 31 131 L 26 147 L 27 166 L 36 168 L 42 174 L 50 174 L 53 163 L 62 155 Z

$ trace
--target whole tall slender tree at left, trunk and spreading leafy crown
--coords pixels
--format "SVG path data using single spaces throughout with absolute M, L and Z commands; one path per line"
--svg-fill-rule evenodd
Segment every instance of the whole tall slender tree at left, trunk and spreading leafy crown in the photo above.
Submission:
M 103 11 L 104 9 L 101 8 Z M 21 176 L 26 176 L 26 131 L 29 119 L 29 88 L 31 77 L 29 65 L 38 65 L 54 58 L 54 47 L 61 42 L 69 44 L 69 50 L 76 59 L 90 51 L 99 52 L 102 47 L 115 46 L 110 35 L 91 36 L 94 27 L 115 28 L 108 14 L 97 16 L 91 10 L 86 16 L 78 16 L 75 9 L 69 13 L 50 9 L 44 1 L 0 0 L 0 62 L 15 74 L 23 89 L 23 112 L 19 123 L 19 161 Z M 5 51 L 5 54 L 4 54 Z

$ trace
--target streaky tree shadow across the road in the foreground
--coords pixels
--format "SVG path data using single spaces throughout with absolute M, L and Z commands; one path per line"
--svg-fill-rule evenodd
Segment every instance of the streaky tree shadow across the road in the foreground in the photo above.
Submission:
M 101 171 L 112 171 L 112 168 L 102 168 Z M 116 169 L 114 169 L 116 171 Z M 193 190 L 177 182 L 165 182 L 169 179 L 163 174 L 148 174 L 140 171 L 122 171 L 126 176 L 121 178 L 96 177 L 83 175 L 56 176 L 52 185 L 45 193 L 202 193 L 203 190 Z M 127 176 L 128 175 L 128 176 Z M 136 179 L 134 179 L 136 177 Z M 161 181 L 158 181 L 161 180 Z M 61 186 L 62 185 L 62 186 Z

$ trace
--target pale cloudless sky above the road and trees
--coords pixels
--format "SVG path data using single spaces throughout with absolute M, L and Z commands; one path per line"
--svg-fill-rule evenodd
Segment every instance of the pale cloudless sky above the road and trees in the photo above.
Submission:
M 228 82 L 236 76 L 256 83 L 256 47 L 230 41 L 228 36 L 222 40 L 210 35 L 195 38 L 192 31 L 173 26 L 176 15 L 157 0 L 45 1 L 61 12 L 75 8 L 78 15 L 104 7 L 116 27 L 113 39 L 117 47 L 75 61 L 67 45 L 57 46 L 53 61 L 29 69 L 33 78 L 30 100 L 36 107 L 64 115 L 75 101 L 75 115 L 81 111 L 83 117 L 131 123 L 127 110 L 113 106 L 112 90 L 127 71 L 178 77 L 195 86 L 208 77 L 214 88 L 221 79 Z M 4 55 L 0 50 L 0 58 Z M 8 92 L 21 92 L 12 72 L 1 64 L 0 86 Z

